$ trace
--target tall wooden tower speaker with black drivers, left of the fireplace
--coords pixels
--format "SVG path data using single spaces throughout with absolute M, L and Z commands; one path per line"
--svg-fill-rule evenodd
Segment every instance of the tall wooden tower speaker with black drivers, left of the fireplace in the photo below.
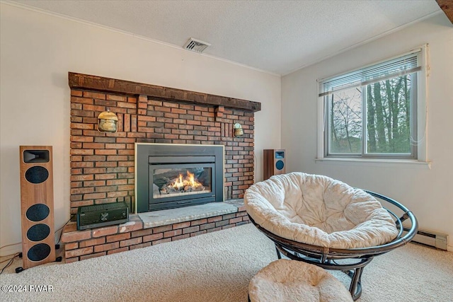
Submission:
M 55 261 L 52 146 L 20 146 L 20 152 L 22 260 L 27 269 Z

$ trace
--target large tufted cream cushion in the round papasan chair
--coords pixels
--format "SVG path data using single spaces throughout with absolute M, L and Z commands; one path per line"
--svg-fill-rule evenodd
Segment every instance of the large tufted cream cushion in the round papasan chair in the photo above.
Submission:
M 251 218 L 282 238 L 327 248 L 366 248 L 398 234 L 394 220 L 367 192 L 323 175 L 275 175 L 246 190 Z

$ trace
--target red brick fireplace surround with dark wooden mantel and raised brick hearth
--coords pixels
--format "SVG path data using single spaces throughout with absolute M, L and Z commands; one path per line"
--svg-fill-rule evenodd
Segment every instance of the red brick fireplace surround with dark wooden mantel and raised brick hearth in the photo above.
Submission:
M 126 202 L 135 209 L 136 143 L 224 146 L 226 213 L 147 227 L 136 214 L 119 226 L 64 227 L 67 262 L 209 233 L 248 222 L 241 204 L 253 184 L 254 112 L 260 103 L 100 76 L 69 73 L 71 88 L 71 214 L 81 206 Z M 98 132 L 98 115 L 118 117 L 117 132 Z M 234 137 L 235 123 L 243 135 Z M 239 201 L 239 202 L 238 202 Z M 228 206 L 228 204 L 226 204 Z

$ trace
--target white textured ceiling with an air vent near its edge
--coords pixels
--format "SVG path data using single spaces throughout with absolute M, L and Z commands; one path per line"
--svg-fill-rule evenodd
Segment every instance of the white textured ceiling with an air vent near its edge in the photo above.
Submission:
M 440 11 L 435 0 L 9 1 L 288 74 Z

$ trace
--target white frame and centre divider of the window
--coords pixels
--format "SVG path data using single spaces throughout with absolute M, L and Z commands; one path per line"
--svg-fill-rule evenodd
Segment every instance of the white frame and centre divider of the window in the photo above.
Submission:
M 366 130 L 366 107 L 362 108 L 362 146 L 361 146 L 361 153 L 328 153 L 328 146 L 329 146 L 329 133 L 328 133 L 328 120 L 329 120 L 329 102 L 328 98 L 330 95 L 322 95 L 318 97 L 318 151 L 316 154 L 316 160 L 328 160 L 328 161 L 385 161 L 385 162 L 427 162 L 428 158 L 428 150 L 427 150 L 427 137 L 428 137 L 428 129 L 427 129 L 427 115 L 428 115 L 428 98 L 427 98 L 427 91 L 428 91 L 428 76 L 429 76 L 429 66 L 428 66 L 428 44 L 422 45 L 420 47 L 411 50 L 410 52 L 406 52 L 406 54 L 411 54 L 414 52 L 418 52 L 417 60 L 418 66 L 420 66 L 420 71 L 415 72 L 415 81 L 413 81 L 414 76 L 411 76 L 411 95 L 412 98 L 412 108 L 411 108 L 411 118 L 415 118 L 415 121 L 411 120 L 411 153 L 367 153 L 367 130 Z M 384 59 L 379 62 L 375 62 L 373 64 L 369 64 L 367 66 L 363 66 L 359 69 L 354 69 L 353 71 L 357 71 L 360 69 L 365 69 L 368 66 L 374 66 L 377 64 L 381 64 L 383 62 L 389 62 L 391 59 L 395 59 L 398 57 L 403 57 L 406 54 L 399 54 L 395 57 L 391 57 L 389 59 Z M 342 72 L 337 76 L 341 76 L 344 74 L 348 74 L 352 71 Z M 397 77 L 398 75 L 394 76 Z M 329 76 L 324 79 L 318 80 L 319 85 L 325 81 L 325 79 L 333 79 L 336 76 Z M 394 78 L 392 77 L 392 78 Z M 319 90 L 321 89 L 320 86 Z M 362 106 L 366 106 L 367 102 L 364 100 L 366 97 L 365 86 L 362 87 Z M 416 94 L 416 98 L 414 98 L 414 94 Z M 365 117 L 364 117 L 365 116 Z M 364 129 L 365 128 L 365 129 Z

